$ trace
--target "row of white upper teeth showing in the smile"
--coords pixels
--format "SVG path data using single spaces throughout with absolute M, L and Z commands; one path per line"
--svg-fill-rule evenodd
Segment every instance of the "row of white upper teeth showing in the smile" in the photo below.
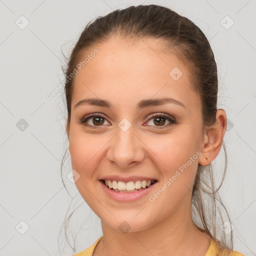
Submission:
M 153 181 L 154 180 L 136 180 L 134 183 L 133 181 L 123 182 L 106 179 L 105 184 L 112 189 L 133 191 L 134 189 L 141 189 L 146 186 L 150 186 Z

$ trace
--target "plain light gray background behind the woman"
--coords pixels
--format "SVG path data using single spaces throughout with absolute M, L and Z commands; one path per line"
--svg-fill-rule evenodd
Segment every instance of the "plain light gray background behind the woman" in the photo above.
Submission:
M 218 67 L 218 107 L 229 120 L 220 195 L 234 226 L 234 249 L 256 254 L 255 0 L 0 0 L 0 255 L 58 255 L 58 231 L 77 194 L 67 178 L 70 195 L 66 192 L 60 176 L 67 145 L 63 89 L 51 100 L 46 97 L 64 78 L 61 49 L 67 54 L 96 16 L 142 3 L 172 8 L 210 41 Z M 223 169 L 223 159 L 222 148 L 216 171 Z M 68 173 L 70 162 L 65 167 Z M 29 226 L 24 234 L 26 224 L 20 221 Z M 78 252 L 102 233 L 85 203 L 75 222 L 76 230 L 83 224 Z M 67 248 L 62 255 L 72 253 Z

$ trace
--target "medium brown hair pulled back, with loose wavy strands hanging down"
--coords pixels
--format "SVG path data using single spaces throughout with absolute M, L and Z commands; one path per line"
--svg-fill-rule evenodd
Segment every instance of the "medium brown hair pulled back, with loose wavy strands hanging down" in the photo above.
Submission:
M 88 52 L 95 45 L 103 43 L 112 35 L 118 35 L 130 40 L 139 38 L 160 39 L 163 42 L 161 46 L 164 45 L 166 50 L 175 54 L 190 71 L 191 84 L 201 100 L 203 129 L 215 123 L 218 92 L 217 66 L 207 38 L 201 29 L 188 18 L 179 15 L 170 8 L 150 4 L 114 10 L 105 16 L 97 17 L 93 22 L 90 21 L 85 26 L 71 51 L 70 57 L 66 58 L 66 67 L 62 67 L 65 75 L 67 133 L 69 133 L 73 90 L 73 78 L 70 78 L 70 74 L 81 57 L 85 55 L 85 52 Z M 218 195 L 218 190 L 226 173 L 224 141 L 223 148 L 225 166 L 220 185 L 217 188 L 215 187 L 211 163 L 206 166 L 198 164 L 191 200 L 192 219 L 195 226 L 198 230 L 207 233 L 213 238 L 220 254 L 223 248 L 226 248 L 225 251 L 233 250 L 232 230 L 230 239 L 227 240 L 227 235 L 221 229 L 225 219 L 223 219 L 221 211 L 216 207 L 216 203 L 219 203 L 219 206 L 225 210 L 230 222 L 226 208 Z M 64 221 L 65 237 L 67 237 L 66 224 L 68 224 L 73 212 Z M 219 213 L 219 216 L 216 223 L 217 213 Z M 220 230 L 218 238 L 216 227 Z M 71 245 L 69 244 L 69 246 Z M 73 248 L 73 250 L 75 249 Z

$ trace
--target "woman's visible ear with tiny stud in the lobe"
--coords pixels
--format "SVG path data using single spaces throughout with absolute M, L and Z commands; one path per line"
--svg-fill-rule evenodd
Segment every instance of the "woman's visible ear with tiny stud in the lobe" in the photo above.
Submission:
M 226 123 L 225 111 L 223 109 L 217 109 L 215 123 L 207 126 L 203 135 L 203 144 L 200 150 L 201 155 L 198 158 L 200 165 L 208 165 L 218 155 L 226 131 Z

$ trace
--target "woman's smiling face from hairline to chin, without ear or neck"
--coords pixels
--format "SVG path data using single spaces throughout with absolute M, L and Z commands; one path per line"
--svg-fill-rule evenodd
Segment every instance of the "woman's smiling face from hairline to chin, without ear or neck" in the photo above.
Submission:
M 123 221 L 138 231 L 181 212 L 190 216 L 203 134 L 201 103 L 188 69 L 154 39 L 131 43 L 112 37 L 95 48 L 98 53 L 75 74 L 71 101 L 69 151 L 79 193 L 115 230 Z M 89 98 L 108 101 L 112 108 L 75 107 Z M 172 100 L 141 104 L 162 98 Z M 110 175 L 157 182 L 144 196 L 121 201 L 102 186 L 100 179 Z

